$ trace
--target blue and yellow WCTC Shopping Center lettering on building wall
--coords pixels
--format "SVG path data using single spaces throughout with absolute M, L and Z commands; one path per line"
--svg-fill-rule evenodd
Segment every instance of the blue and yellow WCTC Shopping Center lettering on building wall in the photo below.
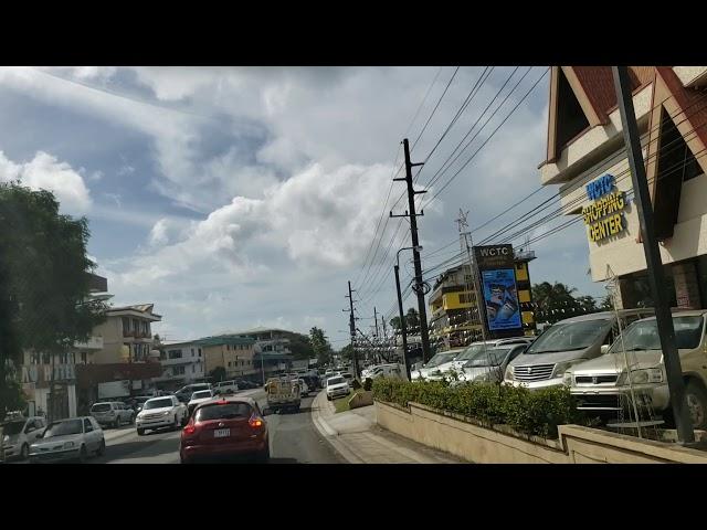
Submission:
M 626 192 L 618 191 L 613 174 L 587 184 L 587 197 L 593 201 L 582 208 L 584 224 L 589 226 L 589 241 L 601 241 L 622 232 L 626 225 L 623 210 L 626 208 Z

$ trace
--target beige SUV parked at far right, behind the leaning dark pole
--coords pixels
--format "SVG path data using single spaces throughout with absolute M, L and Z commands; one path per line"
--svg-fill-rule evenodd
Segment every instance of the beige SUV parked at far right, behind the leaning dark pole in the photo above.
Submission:
M 687 407 L 697 430 L 707 428 L 706 320 L 707 310 L 673 312 Z M 671 395 L 655 317 L 629 326 L 605 354 L 573 365 L 564 372 L 563 381 L 577 399 L 578 409 L 599 415 L 615 415 L 625 410 L 627 417 L 633 416 L 632 391 L 640 412 L 648 406 L 656 415 L 669 411 Z

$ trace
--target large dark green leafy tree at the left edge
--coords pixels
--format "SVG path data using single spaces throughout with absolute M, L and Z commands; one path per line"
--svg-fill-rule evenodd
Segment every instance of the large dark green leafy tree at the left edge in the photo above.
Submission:
M 59 213 L 54 194 L 0 183 L 0 414 L 19 386 L 8 383 L 24 350 L 52 359 L 85 341 L 107 306 L 92 300 L 85 218 Z M 12 390 L 15 389 L 15 390 Z M 14 405 L 12 405 L 14 406 Z

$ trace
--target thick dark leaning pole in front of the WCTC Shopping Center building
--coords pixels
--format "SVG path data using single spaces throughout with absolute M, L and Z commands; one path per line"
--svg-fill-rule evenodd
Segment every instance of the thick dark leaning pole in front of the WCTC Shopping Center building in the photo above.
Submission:
M 619 110 L 621 113 L 621 123 L 623 124 L 623 138 L 626 145 L 629 165 L 631 167 L 634 202 L 636 203 L 636 211 L 639 213 L 641 235 L 643 236 L 643 252 L 645 253 L 648 282 L 651 284 L 653 300 L 655 301 L 655 319 L 661 338 L 673 415 L 677 427 L 677 439 L 678 443 L 682 444 L 692 444 L 695 442 L 695 432 L 693 431 L 693 422 L 687 409 L 687 400 L 685 399 L 683 368 L 677 352 L 673 316 L 671 315 L 667 292 L 665 289 L 666 282 L 663 261 L 661 259 L 658 242 L 655 239 L 653 206 L 645 174 L 643 152 L 641 150 L 639 125 L 633 108 L 629 68 L 627 66 L 612 66 L 612 71 L 616 100 L 619 102 Z M 631 375 L 631 373 L 629 373 L 629 375 Z

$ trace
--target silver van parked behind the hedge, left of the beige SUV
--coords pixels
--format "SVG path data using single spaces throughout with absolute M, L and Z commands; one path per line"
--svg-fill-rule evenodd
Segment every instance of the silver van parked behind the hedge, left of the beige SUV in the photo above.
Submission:
M 621 309 L 621 328 L 654 314 L 652 308 Z M 563 384 L 564 371 L 605 352 L 619 333 L 614 311 L 560 320 L 548 328 L 506 369 L 504 384 L 530 390 Z

